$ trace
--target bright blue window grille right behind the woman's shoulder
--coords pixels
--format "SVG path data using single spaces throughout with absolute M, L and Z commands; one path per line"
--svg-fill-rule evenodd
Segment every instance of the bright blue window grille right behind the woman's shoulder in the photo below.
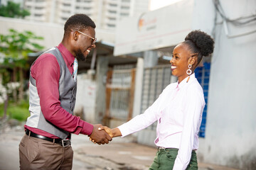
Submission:
M 195 69 L 196 79 L 201 84 L 203 88 L 203 94 L 206 101 L 206 106 L 203 109 L 203 118 L 201 127 L 199 130 L 199 137 L 206 136 L 206 115 L 207 115 L 207 108 L 208 108 L 208 89 L 209 89 L 209 79 L 210 79 L 210 62 L 203 63 L 203 67 L 198 67 Z

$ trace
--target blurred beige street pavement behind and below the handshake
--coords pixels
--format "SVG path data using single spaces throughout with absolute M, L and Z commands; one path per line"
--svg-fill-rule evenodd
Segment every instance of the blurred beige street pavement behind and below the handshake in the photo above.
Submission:
M 19 169 L 18 144 L 23 126 L 0 129 L 0 170 Z M 85 135 L 72 135 L 73 170 L 149 169 L 156 147 L 139 145 L 134 137 L 115 137 L 108 145 L 95 145 Z M 235 170 L 225 166 L 198 163 L 199 170 Z

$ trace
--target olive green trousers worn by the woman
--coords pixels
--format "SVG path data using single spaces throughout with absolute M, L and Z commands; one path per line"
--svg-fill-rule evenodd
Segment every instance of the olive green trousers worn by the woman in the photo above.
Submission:
M 178 154 L 178 149 L 158 149 L 153 164 L 149 167 L 150 170 L 170 170 L 174 168 L 174 162 Z M 188 164 L 186 170 L 197 170 L 198 163 L 196 158 L 196 152 L 193 150 L 191 154 L 191 161 Z

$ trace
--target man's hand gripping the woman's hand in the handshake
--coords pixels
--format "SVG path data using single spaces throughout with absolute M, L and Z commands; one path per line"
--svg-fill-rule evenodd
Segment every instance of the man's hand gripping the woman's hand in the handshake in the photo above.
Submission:
M 108 135 L 104 130 L 98 130 L 100 127 L 102 127 L 100 124 L 93 125 L 92 134 L 89 135 L 90 140 L 98 145 L 104 145 L 105 143 L 108 144 L 109 141 L 112 140 L 112 137 L 110 137 L 110 135 Z

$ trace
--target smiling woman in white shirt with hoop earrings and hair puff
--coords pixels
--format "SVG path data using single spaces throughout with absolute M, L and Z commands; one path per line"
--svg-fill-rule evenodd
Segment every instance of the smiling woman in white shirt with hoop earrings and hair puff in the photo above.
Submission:
M 198 169 L 198 132 L 205 106 L 203 89 L 194 70 L 213 52 L 214 41 L 194 30 L 174 48 L 171 71 L 178 82 L 169 84 L 146 111 L 117 128 L 101 127 L 111 137 L 126 136 L 157 120 L 155 145 L 159 147 L 149 169 Z M 93 141 L 92 141 L 93 142 Z

